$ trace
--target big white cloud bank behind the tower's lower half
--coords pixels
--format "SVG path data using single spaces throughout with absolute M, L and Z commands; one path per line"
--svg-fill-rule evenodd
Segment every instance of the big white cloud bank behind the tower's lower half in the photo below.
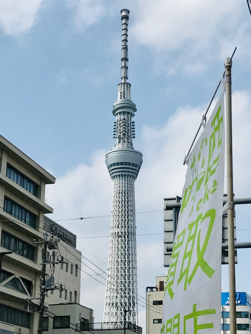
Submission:
M 232 102 L 234 191 L 236 197 L 250 197 L 251 95 L 247 91 L 235 92 Z M 142 138 L 136 147 L 143 152 L 143 165 L 135 184 L 136 212 L 162 210 L 164 197 L 181 196 L 186 172 L 186 167 L 182 165 L 183 158 L 189 149 L 204 110 L 205 106 L 180 107 L 161 128 L 148 125 L 143 127 Z M 47 189 L 47 202 L 54 207 L 55 212 L 52 219 L 108 216 L 59 221 L 78 237 L 108 236 L 110 233 L 112 181 L 104 159 L 105 151 L 94 152 L 89 165 L 76 166 L 74 170 L 58 178 L 56 184 Z M 137 234 L 163 233 L 163 212 L 137 215 L 136 220 Z M 238 226 L 242 223 L 238 220 Z M 141 304 L 145 303 L 145 287 L 153 284 L 155 276 L 165 273 L 165 268 L 162 267 L 162 240 L 163 235 L 137 237 L 138 294 L 141 296 L 139 297 Z M 93 267 L 85 259 L 84 263 L 95 268 L 98 274 L 102 273 L 101 270 L 106 271 L 108 237 L 77 239 L 77 243 L 101 260 L 98 261 L 80 248 L 82 254 L 100 269 Z M 84 265 L 82 269 L 105 283 L 101 278 L 105 275 L 98 276 Z M 238 273 L 240 277 L 241 265 Z M 81 303 L 94 309 L 95 321 L 98 322 L 102 321 L 105 287 L 95 279 L 82 273 Z M 226 284 L 226 282 L 223 284 L 224 287 Z M 242 289 L 248 290 L 245 284 L 247 285 L 243 282 Z M 143 327 L 145 312 L 145 308 L 139 308 L 141 321 L 139 325 Z

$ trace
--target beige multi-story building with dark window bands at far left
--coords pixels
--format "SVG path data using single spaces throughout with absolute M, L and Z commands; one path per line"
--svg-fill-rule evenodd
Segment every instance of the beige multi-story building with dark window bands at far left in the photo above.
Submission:
M 37 298 L 41 275 L 46 184 L 55 178 L 0 136 L 0 328 L 32 334 L 38 312 L 25 311 L 25 300 Z

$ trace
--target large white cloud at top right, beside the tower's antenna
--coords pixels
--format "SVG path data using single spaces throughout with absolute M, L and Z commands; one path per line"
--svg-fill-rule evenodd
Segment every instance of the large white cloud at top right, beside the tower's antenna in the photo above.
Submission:
M 137 2 L 135 23 L 130 33 L 136 44 L 147 46 L 155 58 L 155 71 L 167 75 L 183 70 L 196 75 L 216 59 L 250 54 L 250 24 L 246 6 L 228 1 Z M 172 59 L 169 65 L 170 58 Z

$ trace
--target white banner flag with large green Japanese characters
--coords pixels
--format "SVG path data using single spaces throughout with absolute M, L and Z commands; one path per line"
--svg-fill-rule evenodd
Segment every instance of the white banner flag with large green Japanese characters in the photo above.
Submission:
M 188 158 L 163 303 L 163 334 L 221 332 L 224 90 Z

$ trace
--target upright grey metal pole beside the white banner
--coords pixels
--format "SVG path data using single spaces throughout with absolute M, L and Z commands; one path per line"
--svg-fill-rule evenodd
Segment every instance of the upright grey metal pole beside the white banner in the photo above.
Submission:
M 235 303 L 235 246 L 234 246 L 234 192 L 233 192 L 233 155 L 232 155 L 232 93 L 231 67 L 232 60 L 226 58 L 226 147 L 227 147 L 227 200 L 228 208 L 228 261 L 229 261 L 229 310 L 230 334 L 236 334 L 236 303 Z M 233 205 L 231 205 L 233 204 Z

